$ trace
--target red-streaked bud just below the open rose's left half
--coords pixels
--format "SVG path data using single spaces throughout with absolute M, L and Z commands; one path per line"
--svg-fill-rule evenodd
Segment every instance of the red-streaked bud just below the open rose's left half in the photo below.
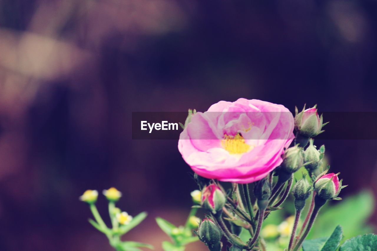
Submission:
M 215 185 L 210 184 L 203 188 L 202 191 L 202 207 L 211 210 L 212 213 L 216 213 L 225 205 L 225 195 L 221 189 Z

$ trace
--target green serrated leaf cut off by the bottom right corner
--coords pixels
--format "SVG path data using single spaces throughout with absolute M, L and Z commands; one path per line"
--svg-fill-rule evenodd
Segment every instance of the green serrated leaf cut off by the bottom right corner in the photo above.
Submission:
M 375 251 L 377 250 L 377 235 L 375 234 L 365 234 L 353 237 L 346 240 L 342 246 L 340 246 L 339 251 Z

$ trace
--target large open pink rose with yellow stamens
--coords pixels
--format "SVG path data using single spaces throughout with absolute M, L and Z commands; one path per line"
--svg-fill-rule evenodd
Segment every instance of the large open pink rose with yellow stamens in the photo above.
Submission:
M 178 149 L 198 175 L 246 184 L 281 164 L 293 127 L 293 115 L 282 105 L 245 98 L 220 101 L 192 116 Z

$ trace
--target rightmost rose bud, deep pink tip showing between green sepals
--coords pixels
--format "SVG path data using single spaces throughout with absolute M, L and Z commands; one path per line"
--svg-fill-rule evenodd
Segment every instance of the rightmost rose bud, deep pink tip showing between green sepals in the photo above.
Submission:
M 317 196 L 324 200 L 337 199 L 344 187 L 346 186 L 342 186 L 342 180 L 339 181 L 338 174 L 335 173 L 325 174 L 314 183 Z

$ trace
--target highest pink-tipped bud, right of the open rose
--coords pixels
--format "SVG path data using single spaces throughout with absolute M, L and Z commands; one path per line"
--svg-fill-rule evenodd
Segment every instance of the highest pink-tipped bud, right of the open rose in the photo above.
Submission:
M 294 128 L 296 131 L 303 136 L 308 138 L 314 137 L 322 133 L 322 127 L 327 123 L 323 124 L 322 115 L 318 115 L 317 106 L 306 109 L 305 106 L 302 112 L 298 112 L 296 107 L 296 116 L 294 116 Z M 304 147 L 305 145 L 301 145 Z

